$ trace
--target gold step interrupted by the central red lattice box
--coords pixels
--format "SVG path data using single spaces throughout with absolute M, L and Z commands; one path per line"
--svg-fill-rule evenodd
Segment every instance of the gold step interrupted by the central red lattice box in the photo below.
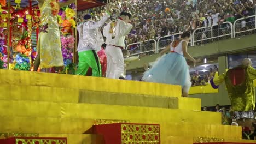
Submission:
M 0 116 L 0 133 L 39 133 L 42 134 L 83 134 L 88 131 L 94 119 L 75 118 L 42 118 L 42 117 L 3 117 Z M 111 121 L 111 120 L 110 120 Z M 114 121 L 114 120 L 112 120 Z M 147 120 L 127 121 L 129 123 L 160 124 L 161 141 L 168 137 L 217 137 L 225 139 L 241 139 L 241 127 L 225 125 L 209 125 L 195 123 L 171 123 L 163 119 L 161 122 Z M 232 131 L 232 134 L 230 134 Z

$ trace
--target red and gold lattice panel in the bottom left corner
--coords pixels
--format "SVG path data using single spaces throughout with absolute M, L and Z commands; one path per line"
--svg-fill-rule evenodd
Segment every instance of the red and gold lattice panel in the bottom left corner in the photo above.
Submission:
M 1 144 L 67 144 L 67 138 L 13 137 L 0 139 Z

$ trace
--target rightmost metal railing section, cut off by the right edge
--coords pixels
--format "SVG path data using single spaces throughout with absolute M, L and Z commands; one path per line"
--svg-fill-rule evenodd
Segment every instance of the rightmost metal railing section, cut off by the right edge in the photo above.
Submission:
M 256 15 L 248 16 L 246 18 L 237 19 L 233 25 L 233 37 L 241 37 L 243 35 L 253 34 L 256 29 Z

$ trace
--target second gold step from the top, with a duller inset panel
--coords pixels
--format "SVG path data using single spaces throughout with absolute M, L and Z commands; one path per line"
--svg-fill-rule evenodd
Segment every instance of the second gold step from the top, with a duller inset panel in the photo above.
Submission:
M 201 99 L 0 84 L 0 100 L 33 100 L 201 110 Z M 79 98 L 79 100 L 78 100 Z

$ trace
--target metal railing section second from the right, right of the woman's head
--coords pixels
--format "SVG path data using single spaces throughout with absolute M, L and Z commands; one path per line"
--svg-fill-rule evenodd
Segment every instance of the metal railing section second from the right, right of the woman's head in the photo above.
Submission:
M 215 39 L 233 38 L 233 25 L 231 22 L 223 22 L 220 25 L 201 27 L 193 32 L 192 45 L 211 43 Z

